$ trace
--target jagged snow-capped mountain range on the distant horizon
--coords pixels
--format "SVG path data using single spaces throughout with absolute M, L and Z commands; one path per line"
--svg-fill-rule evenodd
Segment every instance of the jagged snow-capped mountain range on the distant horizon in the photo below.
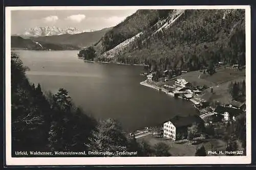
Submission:
M 93 32 L 95 30 L 78 30 L 76 28 L 68 27 L 66 29 L 61 29 L 58 27 L 35 27 L 26 30 L 23 34 L 18 34 L 19 36 L 52 36 L 52 35 L 62 35 L 62 34 L 79 34 L 83 32 Z

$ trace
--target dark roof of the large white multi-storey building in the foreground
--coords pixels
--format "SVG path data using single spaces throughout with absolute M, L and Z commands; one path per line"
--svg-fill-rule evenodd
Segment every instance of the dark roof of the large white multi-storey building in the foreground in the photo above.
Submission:
M 189 115 L 186 117 L 182 116 L 175 116 L 172 119 L 169 120 L 172 122 L 172 124 L 178 128 L 178 127 L 188 127 L 193 125 L 193 123 L 203 123 L 203 119 L 201 119 L 198 115 Z M 167 121 L 168 122 L 168 121 Z

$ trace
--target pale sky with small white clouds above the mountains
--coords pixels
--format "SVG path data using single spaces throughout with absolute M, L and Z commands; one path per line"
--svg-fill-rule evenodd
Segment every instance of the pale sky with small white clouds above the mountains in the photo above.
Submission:
M 22 34 L 26 29 L 47 26 L 101 30 L 116 26 L 136 10 L 15 10 L 11 11 L 11 33 Z

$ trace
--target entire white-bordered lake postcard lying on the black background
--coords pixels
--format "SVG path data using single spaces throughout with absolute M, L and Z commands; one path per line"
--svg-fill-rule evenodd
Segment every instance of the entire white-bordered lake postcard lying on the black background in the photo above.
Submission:
M 250 163 L 250 48 L 249 6 L 7 7 L 7 164 Z

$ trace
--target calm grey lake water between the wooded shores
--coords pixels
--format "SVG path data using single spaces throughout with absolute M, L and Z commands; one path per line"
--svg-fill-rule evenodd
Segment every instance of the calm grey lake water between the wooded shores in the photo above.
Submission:
M 143 66 L 88 63 L 78 51 L 16 51 L 30 82 L 44 91 L 65 88 L 97 119 L 115 118 L 126 131 L 157 126 L 175 115 L 197 114 L 188 101 L 140 85 Z

